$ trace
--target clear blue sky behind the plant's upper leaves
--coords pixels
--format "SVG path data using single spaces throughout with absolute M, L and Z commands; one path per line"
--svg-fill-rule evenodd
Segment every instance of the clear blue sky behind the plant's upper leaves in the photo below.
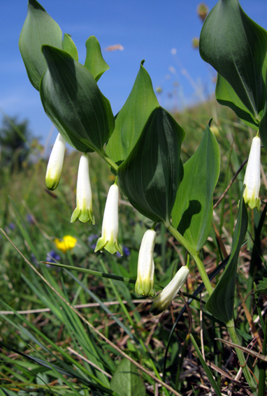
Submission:
M 215 71 L 205 64 L 192 38 L 199 37 L 202 22 L 196 15 L 198 0 L 41 0 L 63 34 L 71 34 L 85 60 L 85 41 L 96 36 L 110 66 L 99 87 L 116 114 L 127 99 L 140 61 L 150 73 L 154 88 L 163 89 L 160 104 L 172 110 L 198 101 L 215 89 Z M 207 0 L 211 9 L 217 1 Z M 267 1 L 240 0 L 243 10 L 267 29 Z M 29 119 L 33 135 L 51 145 L 57 131 L 45 115 L 38 91 L 31 86 L 18 49 L 20 31 L 27 15 L 27 0 L 0 0 L 0 110 L 8 116 Z M 105 48 L 120 44 L 123 51 Z M 176 53 L 171 53 L 175 48 Z M 177 94 L 170 96 L 174 84 Z M 185 127 L 185 126 L 184 126 Z M 49 140 L 48 140 L 49 137 Z

